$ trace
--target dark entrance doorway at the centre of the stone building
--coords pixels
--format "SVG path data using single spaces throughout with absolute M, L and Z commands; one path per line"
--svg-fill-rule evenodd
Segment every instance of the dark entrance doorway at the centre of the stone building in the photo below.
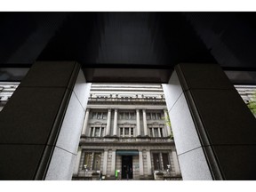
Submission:
M 132 179 L 132 156 L 122 156 L 122 179 Z

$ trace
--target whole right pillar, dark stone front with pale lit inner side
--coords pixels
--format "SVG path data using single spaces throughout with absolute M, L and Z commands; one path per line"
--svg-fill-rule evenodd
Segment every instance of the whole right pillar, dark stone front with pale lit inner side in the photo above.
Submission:
M 256 120 L 219 65 L 177 65 L 164 94 L 183 180 L 256 180 Z

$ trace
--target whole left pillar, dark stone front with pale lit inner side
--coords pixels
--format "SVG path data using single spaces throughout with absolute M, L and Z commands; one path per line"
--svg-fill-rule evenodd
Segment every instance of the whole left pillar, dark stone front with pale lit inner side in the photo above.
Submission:
M 0 114 L 0 180 L 71 180 L 89 91 L 76 62 L 36 62 Z

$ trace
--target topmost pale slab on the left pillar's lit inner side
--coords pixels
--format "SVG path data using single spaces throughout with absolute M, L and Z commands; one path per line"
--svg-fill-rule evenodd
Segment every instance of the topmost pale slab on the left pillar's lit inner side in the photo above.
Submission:
M 86 80 L 84 78 L 84 73 L 80 69 L 73 91 L 76 93 L 76 97 L 80 101 L 84 110 L 85 110 L 86 105 L 87 105 L 90 89 L 91 89 L 91 84 L 86 83 Z

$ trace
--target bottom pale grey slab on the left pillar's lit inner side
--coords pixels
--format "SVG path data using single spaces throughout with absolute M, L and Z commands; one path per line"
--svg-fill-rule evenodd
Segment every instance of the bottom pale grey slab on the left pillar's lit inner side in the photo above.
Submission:
M 54 148 L 45 180 L 71 180 L 75 162 L 76 155 L 58 147 Z

